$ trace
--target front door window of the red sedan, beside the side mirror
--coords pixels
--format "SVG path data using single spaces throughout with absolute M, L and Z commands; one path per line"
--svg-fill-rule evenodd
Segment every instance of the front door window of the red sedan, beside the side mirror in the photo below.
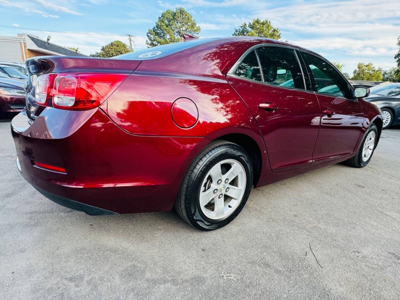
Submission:
M 302 55 L 314 78 L 316 92 L 342 97 L 349 95 L 348 83 L 328 62 L 305 52 Z

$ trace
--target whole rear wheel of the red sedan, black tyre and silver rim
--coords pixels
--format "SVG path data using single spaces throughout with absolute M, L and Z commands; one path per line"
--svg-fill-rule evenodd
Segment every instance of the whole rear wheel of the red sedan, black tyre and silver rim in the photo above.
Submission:
M 252 183 L 252 164 L 244 149 L 231 142 L 212 142 L 190 164 L 174 206 L 192 226 L 214 230 L 236 218 Z

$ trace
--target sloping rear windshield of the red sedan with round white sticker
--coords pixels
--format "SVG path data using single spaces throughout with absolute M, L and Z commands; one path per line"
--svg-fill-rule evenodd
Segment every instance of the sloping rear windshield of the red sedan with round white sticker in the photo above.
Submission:
M 216 40 L 217 38 L 201 38 L 196 40 L 188 40 L 186 42 L 176 42 L 156 47 L 151 47 L 139 51 L 129 52 L 126 54 L 114 56 L 114 59 L 125 60 L 148 60 L 154 58 L 164 57 L 188 48 L 198 46 L 207 42 Z

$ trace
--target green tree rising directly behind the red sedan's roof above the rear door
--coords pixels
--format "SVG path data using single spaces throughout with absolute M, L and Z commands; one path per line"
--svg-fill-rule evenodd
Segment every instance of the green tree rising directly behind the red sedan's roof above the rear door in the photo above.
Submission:
M 279 28 L 274 28 L 268 19 L 264 21 L 259 18 L 253 19 L 248 24 L 243 23 L 239 28 L 235 28 L 232 36 L 261 36 L 263 38 L 280 39 Z

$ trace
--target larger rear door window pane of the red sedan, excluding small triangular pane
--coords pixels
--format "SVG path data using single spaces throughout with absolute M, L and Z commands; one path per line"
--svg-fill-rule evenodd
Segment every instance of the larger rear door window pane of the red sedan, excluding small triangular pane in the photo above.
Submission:
M 260 47 L 257 52 L 264 82 L 305 89 L 303 74 L 294 50 L 282 47 Z

